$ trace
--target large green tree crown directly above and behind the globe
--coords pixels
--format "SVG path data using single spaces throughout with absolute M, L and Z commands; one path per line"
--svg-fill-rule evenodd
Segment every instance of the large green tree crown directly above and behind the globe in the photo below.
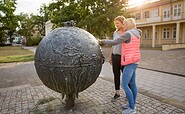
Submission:
M 57 0 L 49 4 L 47 14 L 54 28 L 61 22 L 74 20 L 78 27 L 95 36 L 112 36 L 113 20 L 118 15 L 127 16 L 122 10 L 127 0 Z

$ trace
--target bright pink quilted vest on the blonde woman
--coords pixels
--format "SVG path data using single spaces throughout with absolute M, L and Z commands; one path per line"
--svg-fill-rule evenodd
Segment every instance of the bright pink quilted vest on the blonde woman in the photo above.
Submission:
M 122 43 L 121 65 L 137 63 L 141 59 L 140 39 L 131 37 L 130 43 Z

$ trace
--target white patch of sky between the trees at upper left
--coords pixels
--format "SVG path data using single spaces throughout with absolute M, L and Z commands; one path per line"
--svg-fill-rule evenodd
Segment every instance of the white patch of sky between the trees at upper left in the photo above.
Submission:
M 39 9 L 42 4 L 48 5 L 52 0 L 17 0 L 16 10 L 14 14 L 20 14 L 21 12 L 28 14 L 39 14 Z

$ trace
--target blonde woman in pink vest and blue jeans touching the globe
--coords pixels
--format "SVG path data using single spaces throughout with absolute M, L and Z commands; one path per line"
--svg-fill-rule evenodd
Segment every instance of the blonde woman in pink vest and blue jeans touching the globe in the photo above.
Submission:
M 124 21 L 126 32 L 114 40 L 101 40 L 100 43 L 117 45 L 122 43 L 121 65 L 124 66 L 122 73 L 122 88 L 124 89 L 128 104 L 123 107 L 126 109 L 122 114 L 136 113 L 136 68 L 141 58 L 140 38 L 141 31 L 136 29 L 136 23 L 133 18 Z M 128 86 L 130 84 L 130 87 Z

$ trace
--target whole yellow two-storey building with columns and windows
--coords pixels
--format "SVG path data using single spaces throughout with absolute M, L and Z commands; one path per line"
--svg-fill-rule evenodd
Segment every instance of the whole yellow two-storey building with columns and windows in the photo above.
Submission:
M 127 12 L 142 30 L 142 47 L 185 44 L 185 0 L 158 0 Z

